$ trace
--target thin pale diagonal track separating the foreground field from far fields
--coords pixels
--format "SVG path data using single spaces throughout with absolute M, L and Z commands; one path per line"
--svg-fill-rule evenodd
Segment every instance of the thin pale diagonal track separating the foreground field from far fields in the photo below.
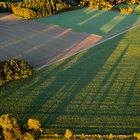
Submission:
M 137 24 L 135 24 L 134 26 L 132 26 L 132 27 L 130 27 L 130 28 L 128 28 L 128 29 L 126 29 L 126 30 L 124 30 L 124 31 L 122 31 L 122 32 L 120 32 L 120 33 L 118 33 L 118 34 L 112 35 L 111 37 L 108 37 L 107 39 L 104 39 L 104 40 L 102 40 L 102 41 L 99 41 L 97 44 L 95 44 L 95 45 L 92 46 L 92 47 L 87 47 L 87 48 L 82 49 L 82 50 L 80 50 L 80 51 L 78 51 L 78 52 L 76 52 L 76 53 L 73 53 L 72 55 L 63 57 L 62 59 L 59 59 L 59 60 L 56 60 L 55 62 L 45 64 L 45 65 L 43 65 L 43 66 L 37 68 L 37 71 L 41 70 L 41 69 L 44 68 L 44 67 L 48 67 L 48 66 L 51 66 L 51 65 L 53 65 L 53 64 L 56 64 L 56 63 L 58 63 L 58 62 L 60 62 L 60 61 L 62 61 L 62 60 L 65 60 L 65 59 L 69 58 L 69 57 L 75 56 L 75 55 L 77 55 L 77 54 L 79 54 L 79 53 L 81 53 L 81 52 L 84 52 L 85 50 L 88 50 L 88 49 L 90 49 L 90 48 L 93 48 L 93 47 L 95 47 L 95 46 L 98 46 L 98 45 L 100 45 L 100 44 L 102 44 L 102 43 L 104 43 L 104 42 L 107 42 L 108 40 L 111 40 L 111 39 L 113 39 L 113 38 L 115 38 L 115 37 L 118 37 L 118 36 L 120 36 L 120 35 L 122 35 L 122 34 L 128 32 L 129 30 L 132 30 L 132 29 L 136 28 L 136 27 L 139 26 L 139 25 L 140 25 L 140 23 L 137 23 Z M 97 53 L 96 53 L 96 54 L 97 54 Z M 93 55 L 94 55 L 94 54 L 93 54 Z M 91 56 L 93 56 L 93 55 L 88 56 L 86 59 L 88 59 L 89 57 L 91 57 Z M 85 61 L 86 59 L 84 59 L 83 61 Z M 83 61 L 82 61 L 82 62 L 83 62 Z

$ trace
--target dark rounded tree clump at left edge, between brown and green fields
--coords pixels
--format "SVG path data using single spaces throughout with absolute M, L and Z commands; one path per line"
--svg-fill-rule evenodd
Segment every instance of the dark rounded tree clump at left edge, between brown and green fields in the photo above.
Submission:
M 11 59 L 0 62 L 0 85 L 22 78 L 28 78 L 31 75 L 32 68 L 24 60 Z

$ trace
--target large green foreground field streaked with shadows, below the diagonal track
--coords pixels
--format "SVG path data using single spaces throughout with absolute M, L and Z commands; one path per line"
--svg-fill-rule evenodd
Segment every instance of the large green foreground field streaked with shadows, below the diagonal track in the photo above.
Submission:
M 0 89 L 0 113 L 55 132 L 129 134 L 140 126 L 140 27 Z M 133 38 L 133 40 L 132 40 Z

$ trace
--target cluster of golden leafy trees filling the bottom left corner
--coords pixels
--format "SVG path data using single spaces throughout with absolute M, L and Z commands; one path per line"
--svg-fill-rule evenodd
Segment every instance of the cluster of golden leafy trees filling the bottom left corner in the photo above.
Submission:
M 30 124 L 20 126 L 13 116 L 4 114 L 0 117 L 0 136 L 4 140 L 35 140 L 42 132 L 41 124 L 36 119 L 29 119 Z M 32 128 L 32 129 L 29 129 Z M 35 128 L 35 129 L 34 129 Z

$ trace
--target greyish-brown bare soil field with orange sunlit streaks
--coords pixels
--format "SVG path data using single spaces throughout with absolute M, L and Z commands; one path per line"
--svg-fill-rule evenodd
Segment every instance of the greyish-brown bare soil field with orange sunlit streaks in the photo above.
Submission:
M 40 67 L 94 46 L 102 37 L 57 25 L 0 16 L 0 61 L 19 58 Z

